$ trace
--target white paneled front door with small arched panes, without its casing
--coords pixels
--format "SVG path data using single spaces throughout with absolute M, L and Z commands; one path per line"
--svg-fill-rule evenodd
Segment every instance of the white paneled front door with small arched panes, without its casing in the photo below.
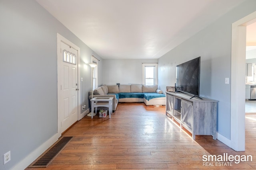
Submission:
M 61 42 L 61 131 L 78 120 L 78 51 Z M 59 75 L 58 75 L 59 76 Z

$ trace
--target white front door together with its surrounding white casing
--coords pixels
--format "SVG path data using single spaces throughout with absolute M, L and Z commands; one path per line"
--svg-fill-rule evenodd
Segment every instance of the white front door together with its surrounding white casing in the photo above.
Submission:
M 68 57 L 64 61 L 63 54 Z M 72 57 L 73 56 L 73 57 Z M 76 56 L 76 57 L 74 57 Z M 76 64 L 73 62 L 76 60 Z M 67 61 L 68 60 L 68 61 Z M 57 33 L 58 136 L 80 115 L 80 49 Z

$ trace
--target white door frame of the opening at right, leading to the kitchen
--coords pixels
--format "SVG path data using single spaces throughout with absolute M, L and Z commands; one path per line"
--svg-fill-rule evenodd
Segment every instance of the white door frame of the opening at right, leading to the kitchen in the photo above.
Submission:
M 232 23 L 230 147 L 245 150 L 246 25 L 256 22 L 256 12 Z

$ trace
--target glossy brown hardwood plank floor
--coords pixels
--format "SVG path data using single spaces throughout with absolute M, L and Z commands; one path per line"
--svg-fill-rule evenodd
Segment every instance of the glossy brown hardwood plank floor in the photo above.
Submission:
M 119 103 L 111 119 L 86 116 L 63 136 L 73 139 L 47 168 L 26 170 L 256 168 L 256 115 L 252 114 L 246 115 L 244 152 L 236 152 L 212 136 L 198 135 L 194 141 L 191 134 L 165 115 L 165 106 L 144 103 Z M 202 160 L 203 155 L 224 153 L 252 155 L 252 161 L 236 164 L 236 161 Z M 222 162 L 232 162 L 232 166 L 215 164 Z

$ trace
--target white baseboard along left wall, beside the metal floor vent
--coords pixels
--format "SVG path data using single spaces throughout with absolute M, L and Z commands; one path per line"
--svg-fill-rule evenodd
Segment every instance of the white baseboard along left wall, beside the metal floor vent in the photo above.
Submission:
M 59 137 L 60 135 L 56 133 L 54 136 L 48 139 L 48 141 L 43 143 L 40 147 L 28 154 L 28 156 L 26 156 L 23 160 L 18 162 L 18 164 L 14 165 L 11 170 L 24 170 L 27 168 L 34 160 L 36 160 L 36 158 L 50 148 L 56 141 L 58 141 Z

